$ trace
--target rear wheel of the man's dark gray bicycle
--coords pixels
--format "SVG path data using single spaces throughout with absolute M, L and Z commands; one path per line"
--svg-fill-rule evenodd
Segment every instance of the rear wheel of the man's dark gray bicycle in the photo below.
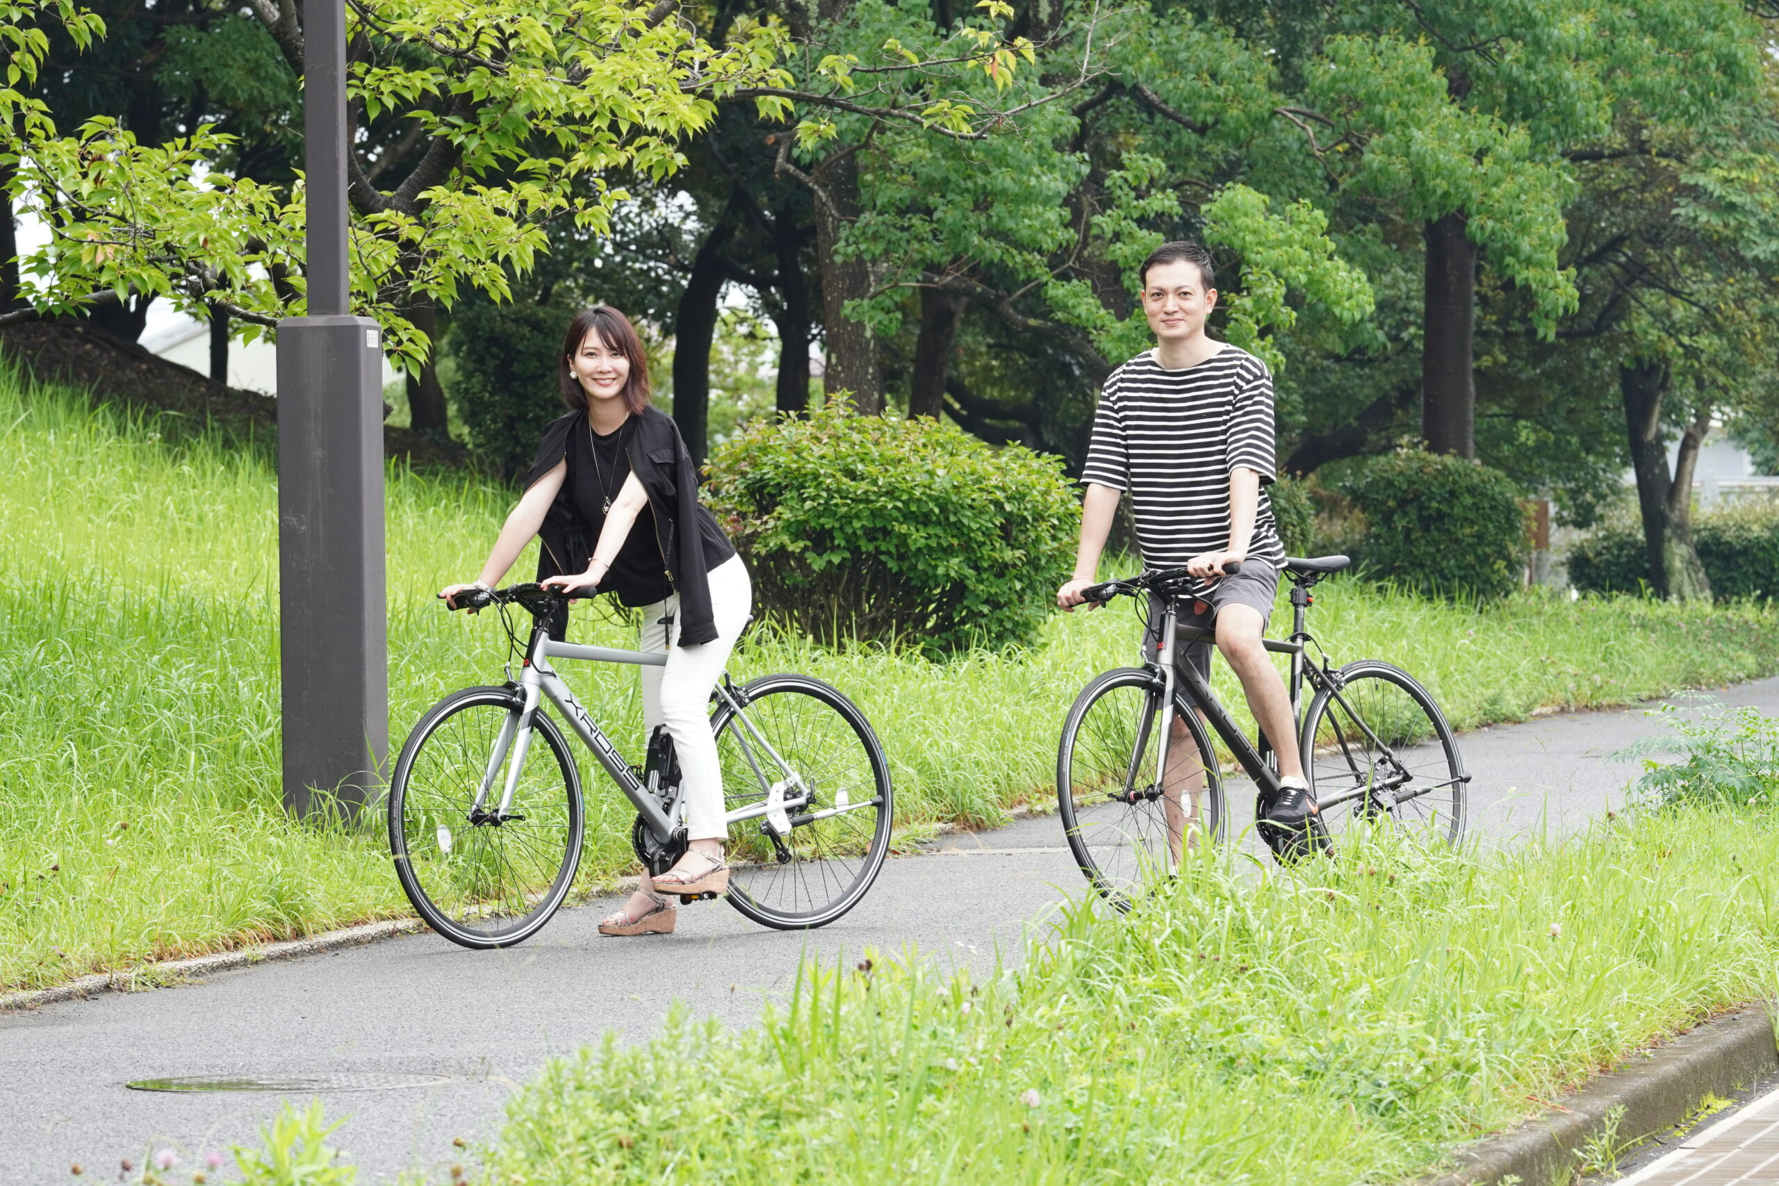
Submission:
M 1405 670 L 1361 660 L 1334 674 L 1304 717 L 1302 757 L 1336 852 L 1364 829 L 1457 845 L 1469 775 L 1452 725 Z

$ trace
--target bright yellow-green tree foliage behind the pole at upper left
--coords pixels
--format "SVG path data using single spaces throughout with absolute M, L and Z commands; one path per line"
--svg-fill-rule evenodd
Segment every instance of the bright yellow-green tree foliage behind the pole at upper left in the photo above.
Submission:
M 301 75 L 294 0 L 249 9 Z M 592 233 L 610 224 L 624 192 L 608 176 L 672 172 L 678 142 L 710 123 L 717 100 L 785 82 L 777 28 L 753 25 L 715 50 L 671 12 L 617 0 L 350 9 L 349 92 L 361 130 L 349 156 L 354 309 L 384 324 L 416 373 L 429 363 L 434 306 L 466 290 L 507 297 L 551 222 Z M 59 25 L 82 50 L 103 34 L 103 20 L 69 0 L 0 5 L 14 84 L 0 92 L 0 165 L 14 169 L 12 199 L 50 228 L 25 263 L 43 281 L 32 308 L 0 322 L 146 297 L 221 309 L 247 334 L 299 313 L 301 187 L 215 171 L 244 140 L 212 124 L 149 142 L 93 116 L 64 133 L 41 98 L 16 89 L 37 78 L 48 50 L 34 21 Z M 788 112 L 769 94 L 756 105 Z

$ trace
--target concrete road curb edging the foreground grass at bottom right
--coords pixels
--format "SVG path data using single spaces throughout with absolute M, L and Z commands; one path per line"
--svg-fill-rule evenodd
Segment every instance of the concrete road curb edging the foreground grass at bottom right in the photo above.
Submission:
M 1615 1110 L 1624 1110 L 1615 1142 L 1654 1136 L 1685 1122 L 1706 1095 L 1733 1095 L 1774 1070 L 1779 1070 L 1779 1046 L 1772 1006 L 1747 1005 L 1633 1053 L 1550 1111 L 1464 1149 L 1455 1172 L 1425 1179 L 1425 1186 L 1567 1182 L 1576 1154 L 1610 1127 Z

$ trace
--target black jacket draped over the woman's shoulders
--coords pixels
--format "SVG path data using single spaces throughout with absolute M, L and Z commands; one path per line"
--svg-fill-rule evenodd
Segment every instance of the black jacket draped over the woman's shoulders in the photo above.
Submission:
M 568 457 L 569 432 L 585 430 L 587 413 L 551 420 L 544 429 L 544 443 L 537 448 L 537 461 L 525 475 L 525 487 L 530 489 Z M 697 466 L 680 437 L 680 427 L 660 409 L 644 407 L 640 416 L 624 423 L 623 432 L 630 471 L 642 482 L 655 512 L 655 541 L 667 562 L 667 580 L 680 594 L 680 645 L 710 642 L 717 637 L 717 621 L 710 608 L 710 564 L 697 530 Z M 537 580 L 587 571 L 598 541 L 575 510 L 568 482 L 550 505 L 537 537 L 544 544 L 537 557 Z

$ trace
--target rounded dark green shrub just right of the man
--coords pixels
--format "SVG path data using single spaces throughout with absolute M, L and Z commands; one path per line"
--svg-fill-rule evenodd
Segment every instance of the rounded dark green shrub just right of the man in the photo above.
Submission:
M 1402 452 L 1357 468 L 1343 491 L 1364 514 L 1373 580 L 1446 597 L 1505 597 L 1519 587 L 1526 526 L 1505 473 Z

